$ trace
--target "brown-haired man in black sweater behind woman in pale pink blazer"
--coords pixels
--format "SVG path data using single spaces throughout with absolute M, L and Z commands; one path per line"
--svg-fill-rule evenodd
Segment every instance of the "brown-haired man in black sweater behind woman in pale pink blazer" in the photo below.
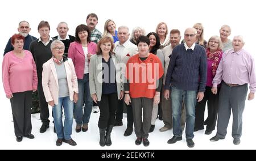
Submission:
M 41 21 L 38 25 L 38 32 L 40 34 L 39 39 L 36 39 L 30 44 L 30 52 L 32 53 L 35 63 L 36 70 L 38 72 L 38 93 L 39 93 L 39 104 L 40 104 L 40 118 L 43 123 L 40 128 L 40 133 L 46 132 L 49 128 L 49 109 L 44 97 L 43 87 L 42 87 L 42 71 L 43 63 L 47 62 L 52 57 L 51 43 L 53 40 L 49 36 L 50 26 L 47 21 Z

